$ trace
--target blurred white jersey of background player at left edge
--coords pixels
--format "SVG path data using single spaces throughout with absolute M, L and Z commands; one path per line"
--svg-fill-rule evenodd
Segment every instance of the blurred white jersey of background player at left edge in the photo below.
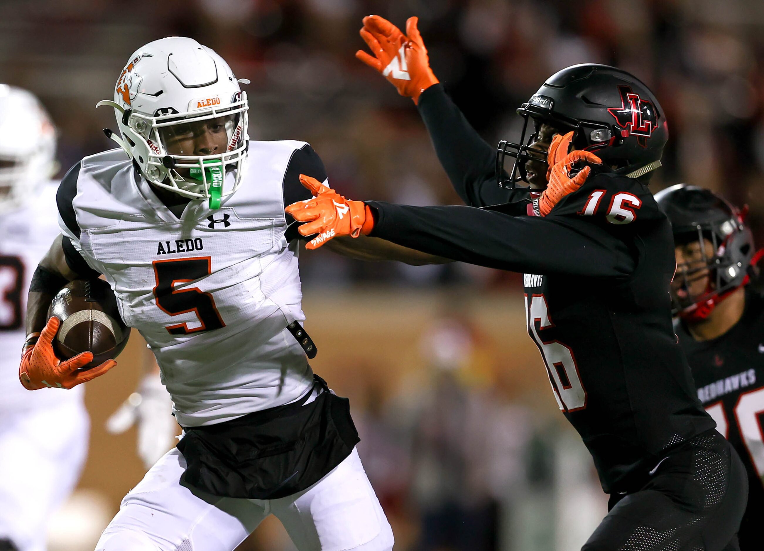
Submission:
M 24 311 L 27 291 L 37 263 L 60 235 L 56 222 L 58 183 L 30 188 L 24 203 L 0 216 L 0 411 L 56 405 L 82 400 L 83 388 L 71 391 L 43 388 L 28 391 L 18 380 L 21 346 L 24 345 Z M 81 385 L 80 385 L 81 386 Z

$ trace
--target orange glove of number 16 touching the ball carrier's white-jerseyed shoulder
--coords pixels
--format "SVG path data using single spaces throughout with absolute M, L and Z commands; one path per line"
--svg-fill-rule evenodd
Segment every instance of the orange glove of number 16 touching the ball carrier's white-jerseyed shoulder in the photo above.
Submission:
M 339 235 L 369 235 L 374 228 L 374 216 L 363 201 L 348 201 L 332 188 L 305 174 L 299 181 L 313 194 L 312 199 L 298 201 L 287 206 L 286 212 L 298 222 L 308 222 L 299 226 L 302 235 L 319 234 L 305 248 L 319 248 L 329 239 Z

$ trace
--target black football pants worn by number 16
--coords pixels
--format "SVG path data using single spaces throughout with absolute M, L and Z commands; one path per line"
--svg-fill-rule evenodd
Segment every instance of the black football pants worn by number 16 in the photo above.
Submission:
M 581 551 L 738 551 L 747 500 L 740 457 L 710 430 L 667 452 L 639 490 L 613 494 Z

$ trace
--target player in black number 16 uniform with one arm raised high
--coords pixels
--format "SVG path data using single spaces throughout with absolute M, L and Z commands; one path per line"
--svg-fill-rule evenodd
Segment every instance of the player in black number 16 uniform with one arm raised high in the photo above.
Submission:
M 307 247 L 364 234 L 523 272 L 529 334 L 611 496 L 584 549 L 737 549 L 745 468 L 698 401 L 672 327 L 672 232 L 646 186 L 668 139 L 652 92 L 614 67 L 568 67 L 520 107 L 531 131 L 500 145 L 494 170 L 496 150 L 429 69 L 415 18 L 406 31 L 365 18 L 364 60 L 414 99 L 468 206 L 350 201 L 303 178 L 316 197 L 287 212 L 318 234 Z

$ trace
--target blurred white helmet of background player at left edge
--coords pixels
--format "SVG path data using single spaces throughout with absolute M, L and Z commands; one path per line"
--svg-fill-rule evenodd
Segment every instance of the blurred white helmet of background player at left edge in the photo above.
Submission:
M 0 84 L 0 213 L 18 207 L 24 196 L 57 170 L 56 128 L 32 94 Z

